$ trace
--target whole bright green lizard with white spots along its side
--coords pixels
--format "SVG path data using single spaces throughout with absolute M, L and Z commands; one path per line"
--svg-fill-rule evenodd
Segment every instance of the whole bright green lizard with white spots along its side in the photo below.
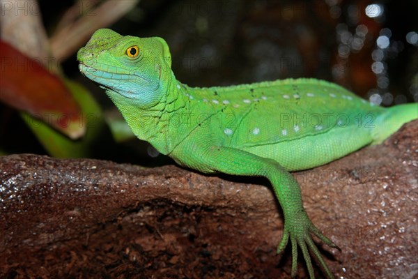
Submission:
M 337 246 L 311 223 L 300 187 L 289 173 L 379 144 L 418 117 L 418 105 L 389 109 L 358 98 L 341 86 L 314 79 L 192 88 L 176 80 L 162 38 L 96 31 L 77 54 L 79 70 L 97 82 L 133 133 L 179 165 L 200 172 L 265 176 L 284 213 L 277 252 L 291 241 L 314 278 L 309 250 L 332 278 L 311 234 Z

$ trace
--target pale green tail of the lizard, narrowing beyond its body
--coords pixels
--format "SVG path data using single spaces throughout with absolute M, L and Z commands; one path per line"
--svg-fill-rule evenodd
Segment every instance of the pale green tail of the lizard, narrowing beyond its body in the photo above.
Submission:
M 380 144 L 395 133 L 403 124 L 418 119 L 418 103 L 388 107 L 385 113 L 376 118 L 372 144 Z

